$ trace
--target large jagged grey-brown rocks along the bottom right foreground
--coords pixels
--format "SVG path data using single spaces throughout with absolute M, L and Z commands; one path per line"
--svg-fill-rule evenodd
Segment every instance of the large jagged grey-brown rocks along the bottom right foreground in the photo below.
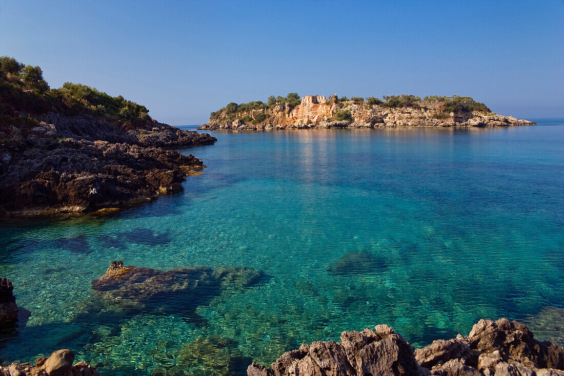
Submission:
M 341 343 L 303 344 L 271 368 L 253 363 L 249 376 L 564 376 L 564 350 L 539 342 L 517 321 L 480 320 L 468 337 L 435 340 L 415 350 L 393 328 L 345 331 Z

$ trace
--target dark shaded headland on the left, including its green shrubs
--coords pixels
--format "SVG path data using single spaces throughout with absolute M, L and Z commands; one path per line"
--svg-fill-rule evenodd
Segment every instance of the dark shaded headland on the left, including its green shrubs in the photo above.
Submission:
M 217 139 L 159 123 L 92 87 L 49 89 L 41 68 L 0 57 L 0 217 L 85 213 L 176 192 L 202 161 L 172 148 Z

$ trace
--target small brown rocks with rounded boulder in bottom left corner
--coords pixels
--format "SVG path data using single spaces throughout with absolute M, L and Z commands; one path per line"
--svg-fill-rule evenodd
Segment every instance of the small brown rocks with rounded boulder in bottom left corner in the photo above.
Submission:
M 35 366 L 29 363 L 12 363 L 0 366 L 1 376 L 98 376 L 86 362 L 73 365 L 74 353 L 68 348 L 57 350 L 49 358 L 39 358 Z

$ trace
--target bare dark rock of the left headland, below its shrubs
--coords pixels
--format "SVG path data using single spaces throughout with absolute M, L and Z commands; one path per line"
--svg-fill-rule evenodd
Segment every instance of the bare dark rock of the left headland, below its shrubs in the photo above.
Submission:
M 177 192 L 204 165 L 169 148 L 216 140 L 157 122 L 127 130 L 83 115 L 39 120 L 0 127 L 0 216 L 90 212 Z

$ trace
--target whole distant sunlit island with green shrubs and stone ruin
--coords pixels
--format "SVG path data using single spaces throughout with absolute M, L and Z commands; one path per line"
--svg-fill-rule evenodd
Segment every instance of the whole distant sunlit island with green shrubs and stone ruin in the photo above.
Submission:
M 325 98 L 296 93 L 268 98 L 267 103 L 230 103 L 210 114 L 201 130 L 280 130 L 380 127 L 495 127 L 535 125 L 493 113 L 464 96 L 392 95 L 378 98 Z

